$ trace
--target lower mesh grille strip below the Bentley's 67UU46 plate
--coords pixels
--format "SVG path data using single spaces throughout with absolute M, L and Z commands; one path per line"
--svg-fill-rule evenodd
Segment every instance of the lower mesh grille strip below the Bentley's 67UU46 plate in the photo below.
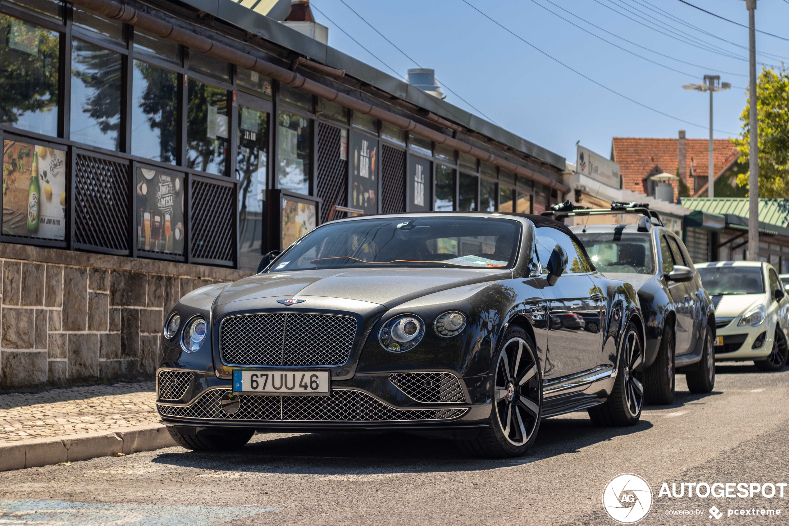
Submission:
M 413 422 L 450 420 L 462 416 L 467 408 L 400 409 L 384 404 L 371 395 L 352 389 L 335 389 L 330 396 L 237 395 L 238 411 L 228 415 L 219 399 L 227 389 L 204 392 L 188 406 L 157 404 L 162 416 L 204 420 L 263 420 L 275 422 Z

